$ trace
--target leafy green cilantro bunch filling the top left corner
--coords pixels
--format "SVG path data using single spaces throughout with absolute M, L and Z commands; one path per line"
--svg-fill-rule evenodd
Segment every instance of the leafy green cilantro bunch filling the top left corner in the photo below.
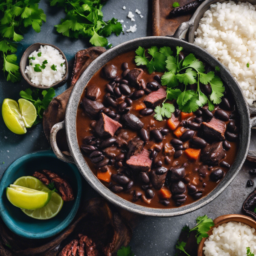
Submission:
M 29 26 L 35 32 L 40 32 L 42 21 L 46 21 L 44 11 L 38 9 L 39 2 L 40 0 L 6 0 L 0 3 L 0 52 L 7 81 L 20 80 L 17 56 L 13 54 L 17 51 L 15 42 L 23 39 Z

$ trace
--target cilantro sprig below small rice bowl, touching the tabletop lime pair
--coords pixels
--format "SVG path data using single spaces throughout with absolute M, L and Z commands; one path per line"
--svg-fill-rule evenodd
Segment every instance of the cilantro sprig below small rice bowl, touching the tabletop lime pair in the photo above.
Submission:
M 47 109 L 49 103 L 52 101 L 54 96 L 55 90 L 52 87 L 47 90 L 43 90 L 41 93 L 37 88 L 33 90 L 28 88 L 20 92 L 20 97 L 32 102 L 37 110 L 38 116 L 33 125 L 36 125 L 42 121 L 43 113 Z

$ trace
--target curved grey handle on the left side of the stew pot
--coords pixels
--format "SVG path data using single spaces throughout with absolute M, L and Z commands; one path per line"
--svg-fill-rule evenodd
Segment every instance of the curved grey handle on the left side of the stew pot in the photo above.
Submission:
M 50 131 L 50 143 L 52 146 L 52 150 L 59 160 L 64 161 L 66 163 L 75 163 L 73 157 L 63 154 L 58 148 L 56 135 L 57 132 L 62 129 L 65 129 L 65 120 L 52 126 L 52 129 Z

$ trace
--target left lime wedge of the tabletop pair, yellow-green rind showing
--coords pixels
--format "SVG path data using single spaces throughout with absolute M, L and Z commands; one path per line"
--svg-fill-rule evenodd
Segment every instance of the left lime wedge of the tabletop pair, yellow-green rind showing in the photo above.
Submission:
M 15 134 L 25 134 L 26 127 L 23 122 L 19 106 L 13 99 L 4 99 L 2 116 L 6 126 Z

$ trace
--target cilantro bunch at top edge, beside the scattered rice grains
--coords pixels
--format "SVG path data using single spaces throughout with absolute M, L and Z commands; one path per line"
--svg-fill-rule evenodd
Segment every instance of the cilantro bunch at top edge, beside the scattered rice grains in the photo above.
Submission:
M 123 32 L 122 24 L 117 22 L 117 19 L 112 18 L 107 22 L 102 20 L 101 0 L 51 0 L 50 3 L 51 6 L 58 4 L 64 7 L 67 13 L 61 23 L 55 25 L 57 32 L 62 35 L 70 38 L 90 38 L 92 45 L 106 47 L 106 37 L 111 33 L 118 36 Z

